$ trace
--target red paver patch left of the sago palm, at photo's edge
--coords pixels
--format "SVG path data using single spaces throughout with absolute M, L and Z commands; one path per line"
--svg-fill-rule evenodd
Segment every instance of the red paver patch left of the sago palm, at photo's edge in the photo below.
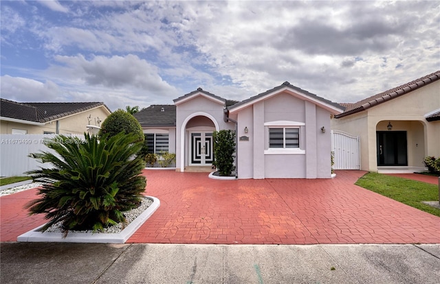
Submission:
M 38 198 L 36 189 L 0 197 L 0 241 L 17 241 L 17 237 L 47 220 L 43 215 L 28 215 L 25 204 Z

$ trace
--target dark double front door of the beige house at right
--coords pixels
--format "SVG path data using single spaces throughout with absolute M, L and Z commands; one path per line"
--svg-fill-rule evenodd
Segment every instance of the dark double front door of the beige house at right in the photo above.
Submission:
M 407 166 L 406 131 L 377 131 L 377 165 Z

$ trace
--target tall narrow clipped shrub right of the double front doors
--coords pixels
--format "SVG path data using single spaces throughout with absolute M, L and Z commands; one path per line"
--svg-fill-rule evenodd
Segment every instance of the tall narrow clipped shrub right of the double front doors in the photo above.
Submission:
M 234 170 L 235 132 L 214 131 L 214 165 L 220 176 L 230 176 Z

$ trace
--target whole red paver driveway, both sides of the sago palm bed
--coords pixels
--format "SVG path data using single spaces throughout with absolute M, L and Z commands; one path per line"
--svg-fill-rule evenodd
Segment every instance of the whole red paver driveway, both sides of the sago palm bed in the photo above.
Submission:
M 211 180 L 205 173 L 144 171 L 161 206 L 128 242 L 174 244 L 440 244 L 440 218 L 353 183 L 333 180 Z M 0 198 L 0 240 L 43 224 L 23 204 L 35 189 Z

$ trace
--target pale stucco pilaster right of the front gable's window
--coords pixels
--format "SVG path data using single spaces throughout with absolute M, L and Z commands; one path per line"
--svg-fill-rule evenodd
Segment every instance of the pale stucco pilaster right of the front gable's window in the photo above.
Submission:
M 316 104 L 305 102 L 305 177 L 317 178 Z

